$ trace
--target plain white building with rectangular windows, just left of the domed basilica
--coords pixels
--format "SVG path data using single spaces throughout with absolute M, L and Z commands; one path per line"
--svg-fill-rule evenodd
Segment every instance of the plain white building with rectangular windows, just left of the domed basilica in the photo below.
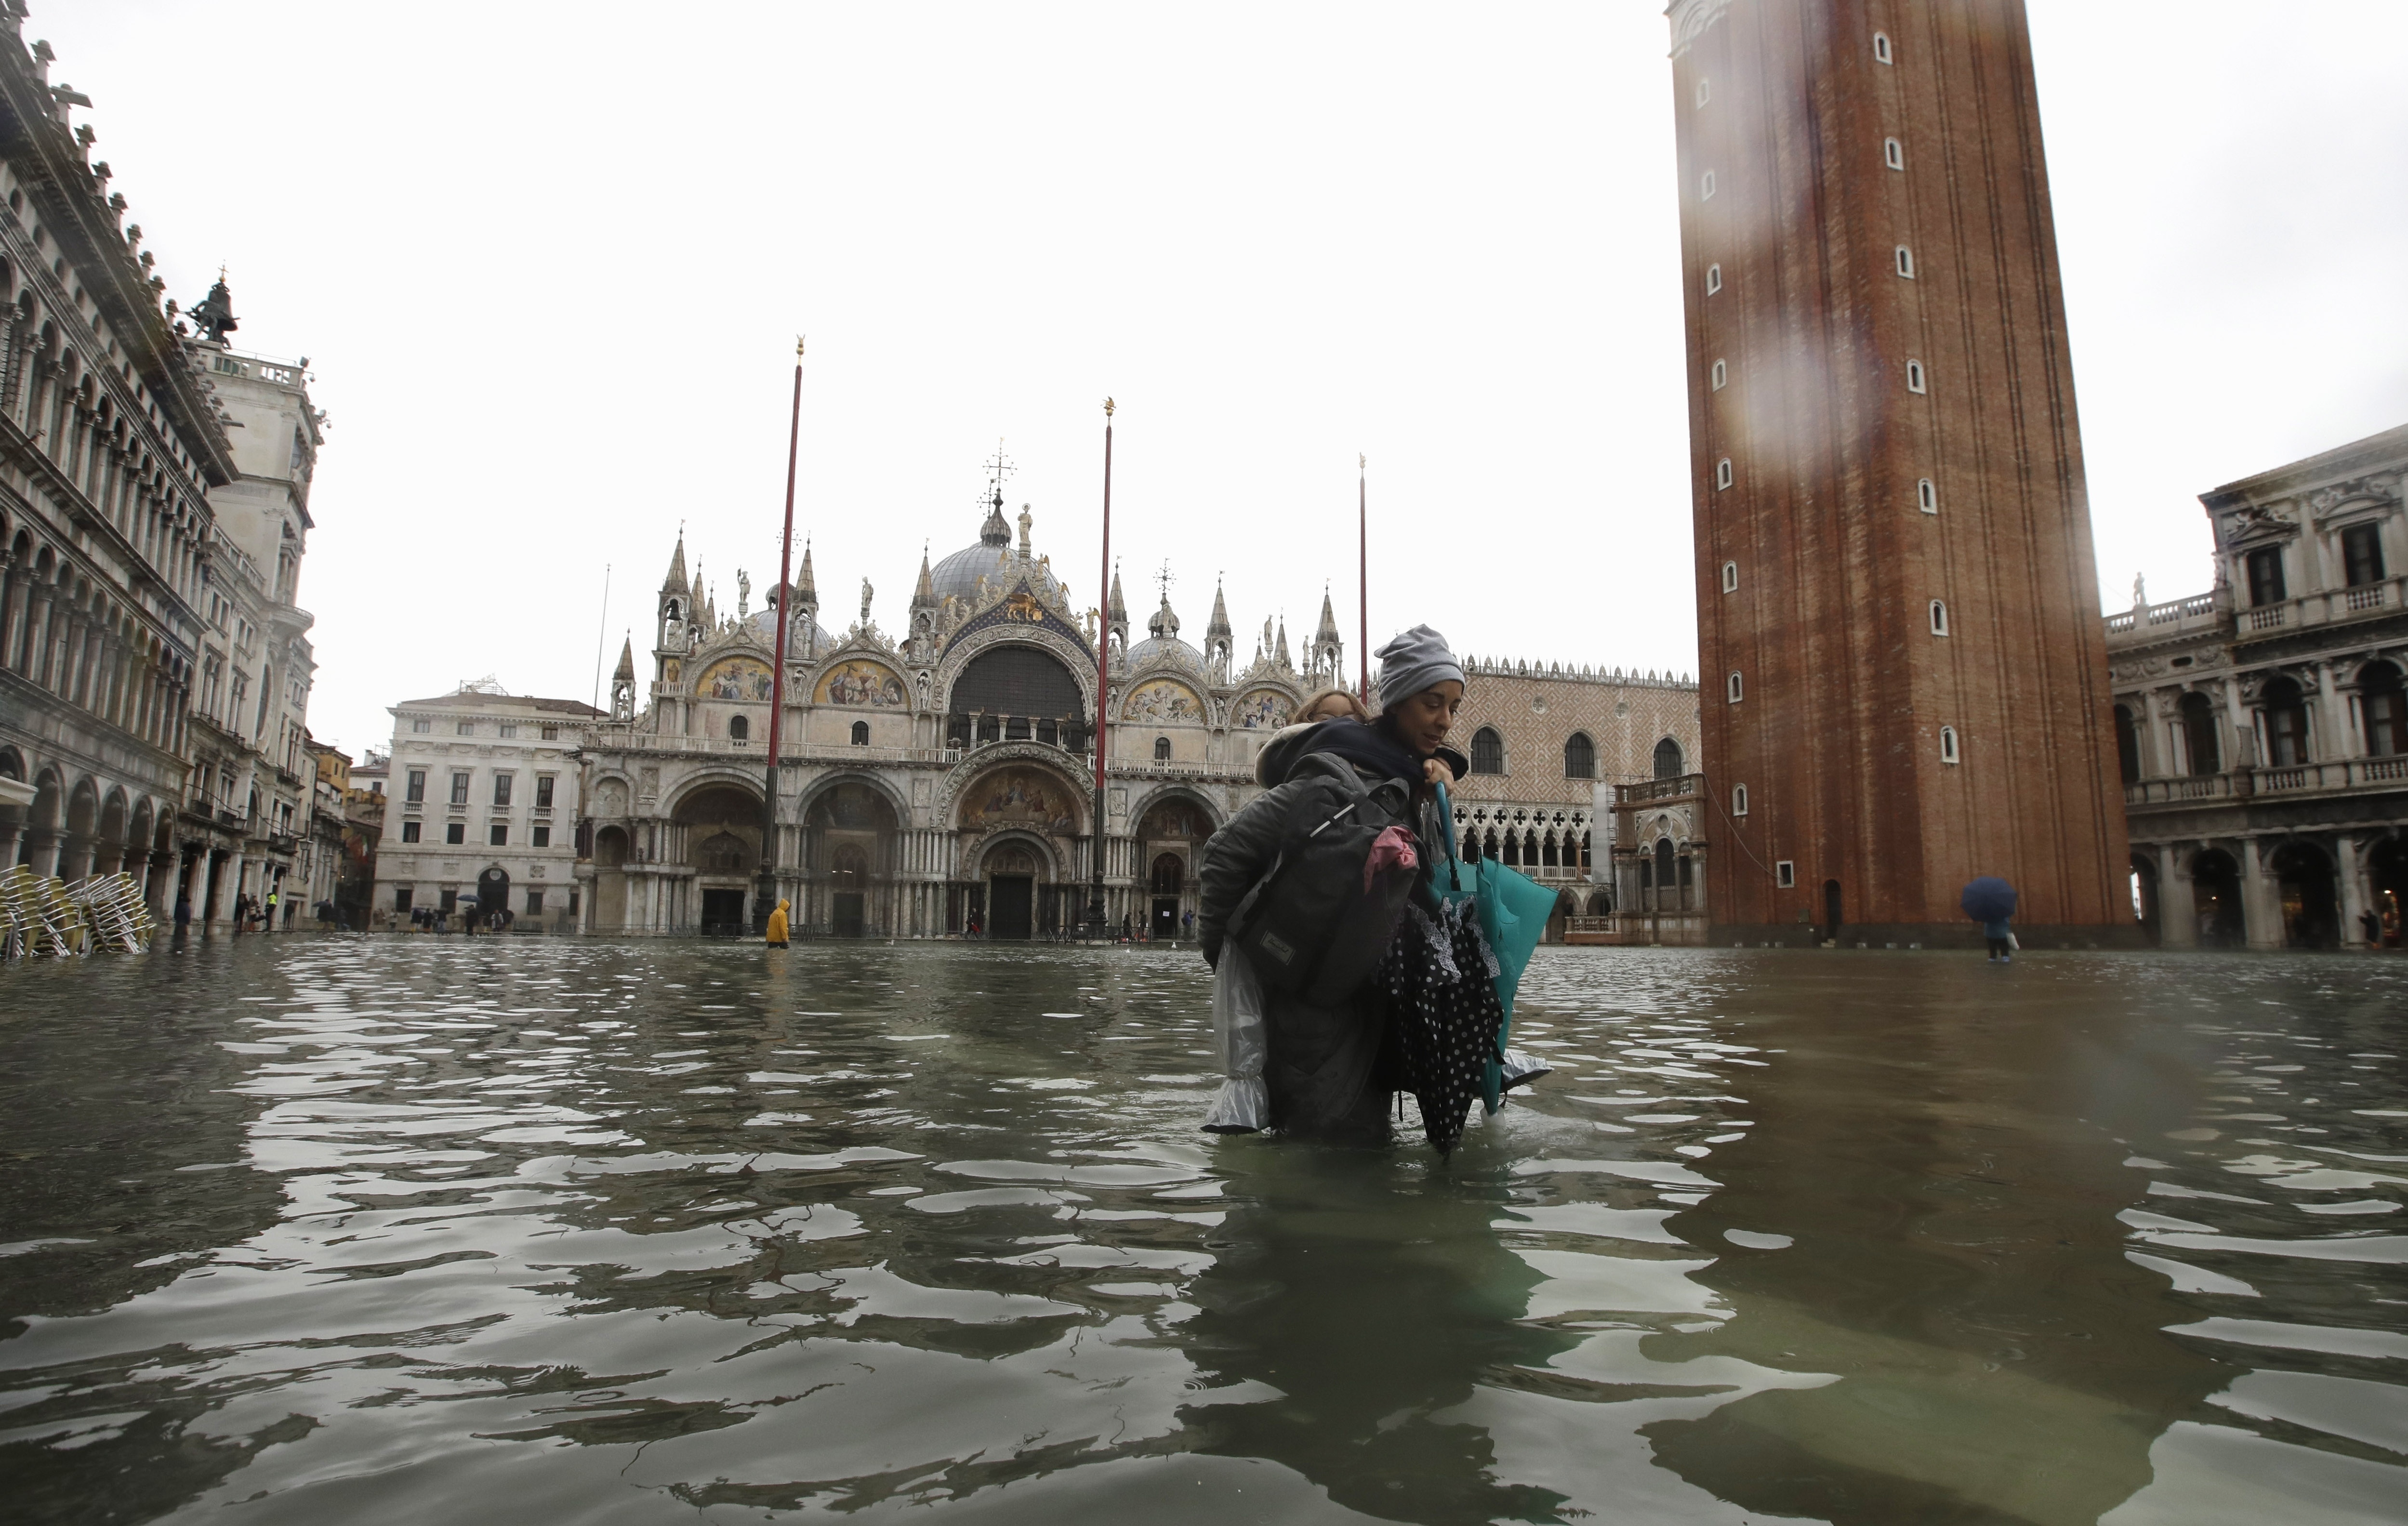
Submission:
M 462 900 L 484 915 L 501 891 L 513 931 L 576 929 L 576 749 L 600 715 L 491 681 L 393 705 L 371 927 L 409 927 L 426 907 L 458 927 Z

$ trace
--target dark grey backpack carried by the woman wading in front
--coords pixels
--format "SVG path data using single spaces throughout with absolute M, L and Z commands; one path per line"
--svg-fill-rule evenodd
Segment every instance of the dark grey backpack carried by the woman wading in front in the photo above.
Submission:
M 1404 917 L 1413 871 L 1370 876 L 1373 840 L 1409 826 L 1413 797 L 1397 780 L 1303 780 L 1286 804 L 1271 871 L 1230 912 L 1228 936 L 1264 987 L 1336 1006 L 1363 989 Z

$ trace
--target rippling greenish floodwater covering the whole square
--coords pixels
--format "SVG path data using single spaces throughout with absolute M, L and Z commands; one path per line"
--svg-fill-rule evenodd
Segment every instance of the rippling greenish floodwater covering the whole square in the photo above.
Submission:
M 1452 1160 L 1163 951 L 0 972 L 43 1521 L 2401 1521 L 2408 965 L 1541 951 Z

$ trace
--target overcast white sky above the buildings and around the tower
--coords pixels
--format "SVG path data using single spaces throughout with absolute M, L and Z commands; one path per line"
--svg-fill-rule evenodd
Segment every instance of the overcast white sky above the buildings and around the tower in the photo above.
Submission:
M 2196 493 L 2408 421 L 2408 5 L 2030 0 L 2100 578 L 2208 585 Z M 496 674 L 588 698 L 679 520 L 766 590 L 795 332 L 824 623 L 903 626 L 1019 465 L 1093 602 L 1202 635 L 1695 669 L 1654 0 L 36 0 L 169 294 L 332 414 L 311 724 Z M 648 674 L 648 667 L 643 669 Z

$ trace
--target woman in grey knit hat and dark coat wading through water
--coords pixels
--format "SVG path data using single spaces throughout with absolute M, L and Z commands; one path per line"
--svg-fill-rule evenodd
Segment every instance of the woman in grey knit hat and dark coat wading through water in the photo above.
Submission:
M 1296 857 L 1303 850 L 1293 806 L 1305 799 L 1344 799 L 1351 792 L 1361 797 L 1351 826 L 1401 826 L 1411 838 L 1413 864 L 1442 857 L 1438 785 L 1466 770 L 1462 753 L 1445 746 L 1454 710 L 1464 700 L 1464 669 L 1445 638 L 1428 626 L 1397 635 L 1377 657 L 1380 715 L 1363 722 L 1361 705 L 1344 703 L 1344 696 L 1315 696 L 1305 720 L 1271 737 L 1255 763 L 1255 777 L 1269 787 L 1267 794 L 1214 833 L 1197 907 L 1197 936 L 1214 965 L 1223 958 L 1230 917 L 1240 903 L 1264 883 L 1283 854 Z M 1394 840 L 1387 852 L 1394 854 Z M 1411 893 L 1430 895 L 1418 869 Z M 1262 936 L 1252 924 L 1245 931 L 1250 939 Z M 1370 951 L 1368 963 L 1358 960 L 1365 968 L 1361 984 L 1334 999 L 1327 994 L 1312 999 L 1264 982 L 1269 1057 L 1262 1081 L 1274 1129 L 1346 1138 L 1387 1136 L 1399 1076 L 1387 1045 L 1387 1004 L 1380 984 L 1370 980 L 1377 953 Z

